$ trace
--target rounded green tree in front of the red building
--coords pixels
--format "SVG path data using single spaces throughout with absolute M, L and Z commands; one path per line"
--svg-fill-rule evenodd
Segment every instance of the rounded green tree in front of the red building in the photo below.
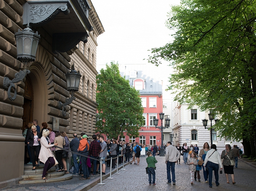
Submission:
M 97 75 L 96 102 L 98 114 L 96 129 L 100 133 L 118 139 L 123 131 L 128 136 L 139 136 L 143 125 L 143 107 L 139 91 L 132 88 L 125 77 L 120 76 L 118 63 L 111 62 Z

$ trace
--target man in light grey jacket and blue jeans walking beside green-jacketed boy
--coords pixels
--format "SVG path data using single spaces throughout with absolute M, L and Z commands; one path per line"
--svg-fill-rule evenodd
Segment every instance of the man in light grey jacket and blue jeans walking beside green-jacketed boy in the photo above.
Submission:
M 175 163 L 180 158 L 180 151 L 176 147 L 172 146 L 172 143 L 169 141 L 166 143 L 165 148 L 165 163 L 167 169 L 167 184 L 175 185 Z M 172 171 L 172 181 L 171 181 L 171 171 Z

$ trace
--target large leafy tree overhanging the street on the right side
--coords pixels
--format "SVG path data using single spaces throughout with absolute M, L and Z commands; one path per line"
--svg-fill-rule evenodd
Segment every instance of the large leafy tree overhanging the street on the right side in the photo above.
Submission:
M 221 116 L 219 137 L 256 143 L 256 0 L 181 0 L 167 27 L 174 40 L 153 48 L 149 62 L 171 61 L 170 90 L 179 103 Z

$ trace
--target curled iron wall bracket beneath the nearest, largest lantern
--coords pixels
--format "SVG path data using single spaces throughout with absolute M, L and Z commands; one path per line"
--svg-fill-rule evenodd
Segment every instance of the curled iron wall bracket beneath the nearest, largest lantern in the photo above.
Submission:
M 4 77 L 4 83 L 3 83 L 3 88 L 8 88 L 8 98 L 13 101 L 16 99 L 17 96 L 17 90 L 15 88 L 15 84 L 14 83 L 18 83 L 20 81 L 22 81 L 27 74 L 29 74 L 30 71 L 29 70 L 20 70 L 19 72 L 17 72 L 14 76 L 15 78 L 13 78 L 12 80 L 10 80 L 8 77 Z M 14 96 L 11 96 L 11 89 L 14 89 Z

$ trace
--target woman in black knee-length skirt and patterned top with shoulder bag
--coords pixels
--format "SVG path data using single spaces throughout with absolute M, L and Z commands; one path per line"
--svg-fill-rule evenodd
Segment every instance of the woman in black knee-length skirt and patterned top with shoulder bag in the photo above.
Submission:
M 234 166 L 235 166 L 235 157 L 234 152 L 231 150 L 230 144 L 225 145 L 225 150 L 221 153 L 221 159 L 223 158 L 222 164 L 224 167 L 224 173 L 226 175 L 227 183 L 229 184 L 228 175 L 231 174 L 232 183 L 235 184 L 234 180 Z

